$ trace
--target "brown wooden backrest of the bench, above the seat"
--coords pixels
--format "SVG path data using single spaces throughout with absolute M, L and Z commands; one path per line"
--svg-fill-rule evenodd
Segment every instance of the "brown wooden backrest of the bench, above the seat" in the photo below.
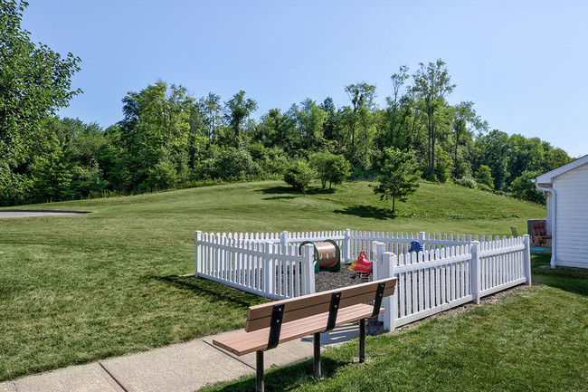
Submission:
M 272 315 L 275 316 L 276 310 L 282 312 L 280 315 L 282 323 L 329 312 L 333 306 L 337 306 L 338 309 L 343 309 L 347 306 L 368 301 L 376 301 L 379 310 L 382 298 L 394 294 L 395 286 L 396 278 L 387 278 L 380 281 L 330 290 L 328 292 L 317 292 L 288 300 L 251 306 L 247 311 L 245 330 L 251 332 L 270 327 Z M 378 294 L 380 294 L 379 299 L 377 298 Z

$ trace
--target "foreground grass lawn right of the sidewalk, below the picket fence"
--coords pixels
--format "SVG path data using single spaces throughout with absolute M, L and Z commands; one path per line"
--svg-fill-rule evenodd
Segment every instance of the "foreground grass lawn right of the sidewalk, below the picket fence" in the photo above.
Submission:
M 322 356 L 326 378 L 312 361 L 266 374 L 269 391 L 585 391 L 588 390 L 588 271 L 541 269 L 539 284 L 520 286 L 498 301 L 423 322 L 416 329 L 367 338 Z M 206 389 L 255 389 L 253 377 Z

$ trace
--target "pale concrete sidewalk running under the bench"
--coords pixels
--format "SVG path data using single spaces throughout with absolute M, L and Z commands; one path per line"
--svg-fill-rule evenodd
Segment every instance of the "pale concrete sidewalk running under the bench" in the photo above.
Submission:
M 358 333 L 356 323 L 323 333 L 323 349 L 355 339 Z M 5 381 L 0 392 L 193 392 L 255 373 L 255 353 L 234 356 L 214 347 L 215 337 Z M 270 368 L 310 357 L 312 337 L 308 336 L 270 349 L 264 365 Z

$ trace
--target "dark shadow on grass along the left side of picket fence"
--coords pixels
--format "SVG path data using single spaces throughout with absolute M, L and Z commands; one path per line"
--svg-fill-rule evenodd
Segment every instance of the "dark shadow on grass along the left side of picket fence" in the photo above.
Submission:
M 252 305 L 258 305 L 268 301 L 258 295 L 242 292 L 233 289 L 232 287 L 225 286 L 224 284 L 208 281 L 202 278 L 195 278 L 194 276 L 147 276 L 147 279 L 164 282 L 177 289 L 192 292 L 194 295 L 197 295 L 206 301 L 223 301 L 236 304 L 239 308 L 248 308 Z

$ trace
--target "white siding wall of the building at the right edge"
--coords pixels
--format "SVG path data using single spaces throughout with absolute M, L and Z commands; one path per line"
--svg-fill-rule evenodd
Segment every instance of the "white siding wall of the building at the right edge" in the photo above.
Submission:
M 555 177 L 555 263 L 588 268 L 588 164 Z

